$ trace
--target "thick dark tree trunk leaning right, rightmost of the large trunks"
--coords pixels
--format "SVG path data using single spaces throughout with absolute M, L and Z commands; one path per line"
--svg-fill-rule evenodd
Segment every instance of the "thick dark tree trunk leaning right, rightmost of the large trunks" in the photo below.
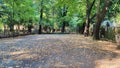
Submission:
M 99 40 L 100 39 L 100 25 L 101 25 L 101 22 L 103 21 L 105 15 L 106 15 L 106 12 L 108 10 L 108 7 L 110 6 L 111 4 L 111 1 L 110 0 L 105 0 L 104 1 L 104 6 L 102 8 L 102 11 L 100 11 L 100 6 L 101 6 L 101 0 L 98 1 L 98 5 L 97 5 L 97 13 L 96 13 L 96 24 L 95 24 L 95 29 L 94 29 L 94 35 L 93 35 L 93 39 L 95 40 Z

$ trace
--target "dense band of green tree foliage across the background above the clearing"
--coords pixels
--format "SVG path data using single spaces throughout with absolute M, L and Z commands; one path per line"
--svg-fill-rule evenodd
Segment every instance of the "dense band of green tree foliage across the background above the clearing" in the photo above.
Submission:
M 110 4 L 106 6 L 107 2 Z M 0 28 L 14 31 L 23 25 L 28 32 L 32 26 L 41 32 L 81 32 L 89 34 L 89 26 L 97 22 L 97 12 L 103 19 L 119 22 L 119 0 L 0 0 Z M 98 2 L 100 4 L 98 5 Z M 104 11 L 104 8 L 107 11 Z M 105 15 L 105 18 L 104 18 Z M 6 27 L 7 25 L 7 27 Z M 85 28 L 85 30 L 84 30 Z M 20 29 L 19 29 L 20 30 Z

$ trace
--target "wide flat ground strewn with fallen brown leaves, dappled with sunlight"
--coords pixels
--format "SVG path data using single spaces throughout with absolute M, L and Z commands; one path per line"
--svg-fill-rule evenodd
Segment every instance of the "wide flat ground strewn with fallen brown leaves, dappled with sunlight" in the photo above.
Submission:
M 116 47 L 78 34 L 0 39 L 0 68 L 120 68 Z

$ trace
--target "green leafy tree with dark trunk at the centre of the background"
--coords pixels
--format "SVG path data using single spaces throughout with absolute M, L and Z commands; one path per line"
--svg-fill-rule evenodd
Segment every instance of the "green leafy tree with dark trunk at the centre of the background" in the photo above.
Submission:
M 71 6 L 74 5 L 74 6 Z M 69 22 L 73 18 L 75 14 L 78 14 L 78 0 L 58 0 L 57 1 L 57 8 L 58 8 L 58 22 L 61 25 L 61 32 L 65 32 L 65 27 L 69 25 Z

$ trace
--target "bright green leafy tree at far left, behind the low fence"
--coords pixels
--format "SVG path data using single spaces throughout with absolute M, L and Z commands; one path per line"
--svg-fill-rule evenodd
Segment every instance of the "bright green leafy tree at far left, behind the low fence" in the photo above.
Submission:
M 7 13 L 7 24 L 10 31 L 13 32 L 14 25 L 28 26 L 33 23 L 36 18 L 36 8 L 31 0 L 4 0 L 4 11 Z M 27 8 L 26 8 L 27 7 Z M 30 22 L 32 20 L 32 22 Z

